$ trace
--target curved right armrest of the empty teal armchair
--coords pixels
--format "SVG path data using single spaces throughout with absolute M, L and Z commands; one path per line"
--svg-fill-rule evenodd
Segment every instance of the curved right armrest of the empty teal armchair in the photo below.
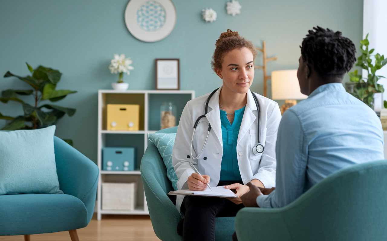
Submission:
M 54 148 L 60 190 L 85 204 L 90 221 L 96 201 L 99 169 L 89 158 L 58 137 L 54 137 Z

